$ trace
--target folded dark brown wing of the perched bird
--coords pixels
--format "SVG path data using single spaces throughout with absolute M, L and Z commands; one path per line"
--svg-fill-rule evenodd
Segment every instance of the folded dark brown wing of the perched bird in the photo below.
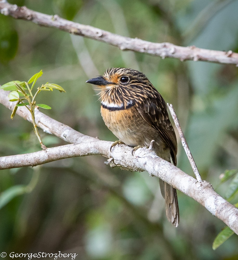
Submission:
M 155 93 L 153 93 L 155 94 Z M 174 165 L 177 164 L 177 139 L 169 120 L 167 106 L 163 97 L 157 92 L 156 98 L 147 98 L 137 105 L 137 109 L 143 119 L 158 130 L 158 134 L 169 146 Z

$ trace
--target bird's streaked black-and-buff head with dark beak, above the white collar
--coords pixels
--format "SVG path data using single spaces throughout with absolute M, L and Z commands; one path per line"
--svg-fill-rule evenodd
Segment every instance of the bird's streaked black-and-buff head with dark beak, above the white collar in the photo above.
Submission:
M 86 82 L 99 87 L 102 102 L 116 105 L 123 104 L 126 106 L 131 102 L 143 102 L 148 94 L 153 97 L 155 91 L 155 88 L 143 73 L 128 68 L 109 68 L 103 76 L 98 76 Z

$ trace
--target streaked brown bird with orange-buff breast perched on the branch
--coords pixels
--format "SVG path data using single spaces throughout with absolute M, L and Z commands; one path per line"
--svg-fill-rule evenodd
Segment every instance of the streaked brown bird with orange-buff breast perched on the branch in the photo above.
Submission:
M 153 149 L 156 154 L 176 166 L 177 139 L 166 103 L 142 72 L 130 68 L 108 68 L 104 75 L 86 83 L 100 90 L 102 118 L 119 139 L 112 147 L 124 143 L 134 149 L 148 148 L 151 140 L 155 140 Z M 161 179 L 159 184 L 165 199 L 166 217 L 177 227 L 177 190 Z

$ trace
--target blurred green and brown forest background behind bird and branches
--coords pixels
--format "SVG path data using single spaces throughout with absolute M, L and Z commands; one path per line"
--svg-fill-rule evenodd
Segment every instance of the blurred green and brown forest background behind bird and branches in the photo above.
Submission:
M 132 38 L 238 51 L 238 1 L 9 2 Z M 108 67 L 147 75 L 175 107 L 202 178 L 226 196 L 229 182 L 219 185 L 219 176 L 237 169 L 238 159 L 237 67 L 162 60 L 0 15 L 0 84 L 27 81 L 42 69 L 38 84 L 57 83 L 67 92 L 41 93 L 38 103 L 52 107 L 42 112 L 83 134 L 114 141 L 98 96 L 85 83 Z M 32 125 L 19 116 L 10 120 L 10 114 L 0 105 L 0 155 L 40 150 Z M 65 144 L 40 134 L 48 147 Z M 0 192 L 9 200 L 22 195 L 0 210 L 0 251 L 76 252 L 84 260 L 238 259 L 236 235 L 212 249 L 225 225 L 200 204 L 178 192 L 175 229 L 165 217 L 157 178 L 111 169 L 104 161 L 88 156 L 1 171 Z M 178 167 L 194 176 L 180 142 Z

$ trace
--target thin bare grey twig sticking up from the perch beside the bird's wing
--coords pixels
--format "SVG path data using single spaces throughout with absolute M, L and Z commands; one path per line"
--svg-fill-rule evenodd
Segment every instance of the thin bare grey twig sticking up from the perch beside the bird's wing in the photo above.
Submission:
M 184 137 L 183 130 L 182 130 L 180 124 L 179 124 L 178 117 L 177 117 L 177 115 L 176 115 L 176 113 L 175 113 L 175 111 L 173 109 L 173 105 L 167 103 L 167 106 L 169 107 L 170 114 L 171 114 L 171 116 L 173 118 L 173 121 L 175 123 L 175 126 L 176 126 L 176 128 L 178 130 L 179 137 L 180 137 L 180 139 L 182 141 L 183 148 L 184 148 L 185 153 L 186 153 L 186 155 L 187 155 L 187 157 L 189 159 L 189 162 L 190 162 L 190 164 L 192 166 L 192 170 L 194 171 L 194 174 L 195 174 L 197 180 L 198 181 L 202 181 L 202 178 L 201 178 L 200 173 L 198 171 L 197 165 L 196 165 L 196 163 L 194 161 L 194 158 L 192 157 L 191 151 L 190 151 L 190 149 L 188 147 L 188 143 L 187 143 L 187 141 L 186 141 L 186 139 Z

